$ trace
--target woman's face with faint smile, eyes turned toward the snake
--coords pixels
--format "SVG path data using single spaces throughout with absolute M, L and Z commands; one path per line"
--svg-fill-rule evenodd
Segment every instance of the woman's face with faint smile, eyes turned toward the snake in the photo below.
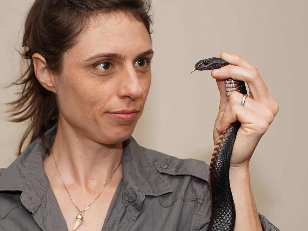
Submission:
M 151 85 L 151 40 L 144 23 L 124 13 L 92 21 L 64 54 L 56 84 L 59 116 L 80 136 L 116 144 L 132 135 L 143 112 Z M 138 112 L 126 120 L 109 113 L 121 110 Z

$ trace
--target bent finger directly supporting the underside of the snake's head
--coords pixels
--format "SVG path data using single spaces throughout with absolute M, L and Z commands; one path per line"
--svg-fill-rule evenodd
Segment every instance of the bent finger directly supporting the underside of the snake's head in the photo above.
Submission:
M 217 70 L 216 72 L 214 70 Z M 259 72 L 245 67 L 227 65 L 219 69 L 214 69 L 211 73 L 212 77 L 217 80 L 232 78 L 234 80 L 245 81 L 248 84 L 249 91 L 253 94 L 255 100 L 269 100 L 271 97 L 263 79 Z

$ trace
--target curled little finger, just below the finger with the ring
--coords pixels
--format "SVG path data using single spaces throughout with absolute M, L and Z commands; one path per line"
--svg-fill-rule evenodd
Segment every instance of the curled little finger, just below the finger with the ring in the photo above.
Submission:
M 234 103 L 226 105 L 226 110 L 221 116 L 220 128 L 217 129 L 218 132 L 224 132 L 229 128 L 230 124 L 237 120 L 241 122 L 242 129 L 250 134 L 262 136 L 269 127 L 269 123 L 265 118 L 256 115 L 241 104 Z

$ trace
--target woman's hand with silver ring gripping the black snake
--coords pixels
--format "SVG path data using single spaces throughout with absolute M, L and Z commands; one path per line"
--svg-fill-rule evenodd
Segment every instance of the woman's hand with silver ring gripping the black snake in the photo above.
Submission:
M 216 79 L 221 97 L 213 131 L 214 144 L 231 123 L 236 120 L 241 122 L 233 146 L 230 167 L 248 167 L 253 151 L 278 112 L 278 103 L 271 96 L 256 67 L 239 55 L 223 52 L 220 57 L 230 65 L 211 72 Z M 227 100 L 224 80 L 228 78 L 248 84 L 249 97 L 246 97 L 244 107 L 241 106 L 243 94 L 237 91 L 232 92 L 229 101 Z

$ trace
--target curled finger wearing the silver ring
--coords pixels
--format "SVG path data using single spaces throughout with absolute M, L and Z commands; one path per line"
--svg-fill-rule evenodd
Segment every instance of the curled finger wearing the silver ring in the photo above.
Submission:
M 236 103 L 240 104 L 242 102 L 243 96 L 244 95 L 240 92 L 237 92 L 237 91 L 231 92 L 229 101 L 228 101 L 228 104 L 230 104 L 230 106 L 228 108 L 232 107 L 232 104 L 236 104 Z M 261 105 L 260 103 L 257 103 L 253 99 L 250 99 L 249 97 L 245 98 L 244 107 L 252 111 L 256 115 L 265 118 L 269 124 L 271 124 L 274 120 L 275 115 L 274 115 L 274 111 L 272 110 L 272 108 L 265 107 Z M 225 108 L 225 110 L 227 109 Z

